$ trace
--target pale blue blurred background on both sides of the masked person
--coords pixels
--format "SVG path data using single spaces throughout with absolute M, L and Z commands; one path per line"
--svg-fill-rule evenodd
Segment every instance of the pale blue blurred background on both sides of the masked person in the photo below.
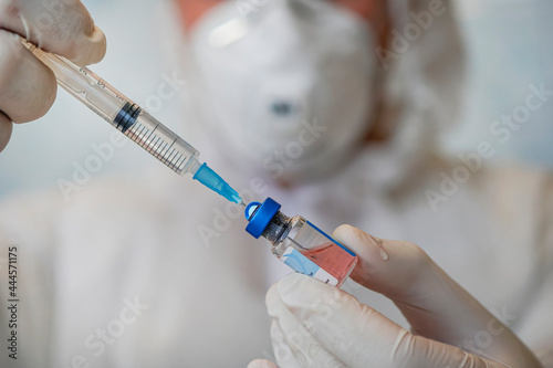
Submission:
M 159 24 L 164 1 L 84 1 L 105 31 L 105 60 L 92 70 L 138 104 L 155 94 L 174 67 L 165 62 Z M 523 104 L 529 84 L 553 90 L 553 1 L 457 1 L 467 41 L 468 81 L 461 124 L 444 138 L 450 153 L 474 151 L 490 139 L 489 128 L 502 114 Z M 178 134 L 185 125 L 179 116 L 180 98 L 173 98 L 155 116 Z M 553 98 L 504 145 L 494 159 L 521 160 L 553 168 Z M 63 91 L 49 114 L 39 122 L 18 125 L 11 143 L 0 154 L 0 197 L 56 186 L 70 180 L 73 162 L 94 154 L 93 144 L 109 140 L 113 128 Z M 185 135 L 186 138 L 186 135 Z M 117 148 L 100 174 L 142 170 L 158 165 L 132 143 Z M 91 179 L 95 180 L 95 176 Z

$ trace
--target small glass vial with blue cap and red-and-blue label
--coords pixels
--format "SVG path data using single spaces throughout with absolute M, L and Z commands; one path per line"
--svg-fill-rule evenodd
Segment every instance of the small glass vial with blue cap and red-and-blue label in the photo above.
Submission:
M 289 218 L 271 198 L 251 202 L 244 214 L 246 231 L 265 238 L 272 252 L 294 271 L 340 286 L 357 264 L 357 255 L 301 215 Z

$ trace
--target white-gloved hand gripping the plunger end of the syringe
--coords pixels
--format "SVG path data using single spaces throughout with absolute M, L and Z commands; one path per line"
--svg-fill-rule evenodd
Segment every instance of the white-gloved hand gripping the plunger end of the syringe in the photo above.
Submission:
M 19 36 L 79 65 L 100 62 L 106 50 L 104 33 L 79 0 L 0 0 L 0 151 L 12 122 L 43 116 L 56 93 L 54 74 Z

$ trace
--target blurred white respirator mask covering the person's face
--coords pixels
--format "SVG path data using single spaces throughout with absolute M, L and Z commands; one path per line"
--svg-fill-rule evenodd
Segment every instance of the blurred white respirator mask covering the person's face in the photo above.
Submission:
M 222 2 L 191 34 L 202 126 L 234 165 L 286 181 L 327 174 L 373 120 L 373 45 L 331 1 Z

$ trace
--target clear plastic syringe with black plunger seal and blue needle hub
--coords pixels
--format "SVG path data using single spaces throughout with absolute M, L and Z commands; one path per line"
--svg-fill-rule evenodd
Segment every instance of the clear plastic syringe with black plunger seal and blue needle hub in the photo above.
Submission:
M 58 84 L 178 175 L 190 172 L 209 189 L 241 203 L 238 192 L 198 160 L 199 151 L 87 67 L 22 41 L 55 74 Z

